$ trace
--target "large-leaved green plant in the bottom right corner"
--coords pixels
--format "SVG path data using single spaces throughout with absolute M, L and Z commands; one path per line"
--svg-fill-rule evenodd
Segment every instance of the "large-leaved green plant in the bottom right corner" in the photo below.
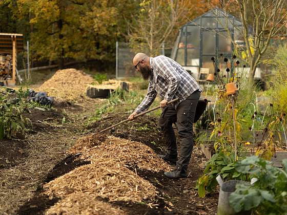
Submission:
M 257 178 L 254 185 L 238 184 L 230 195 L 235 212 L 253 210 L 255 214 L 286 214 L 287 211 L 287 159 L 283 168 L 257 156 L 250 156 L 235 164 L 235 169 L 248 178 Z

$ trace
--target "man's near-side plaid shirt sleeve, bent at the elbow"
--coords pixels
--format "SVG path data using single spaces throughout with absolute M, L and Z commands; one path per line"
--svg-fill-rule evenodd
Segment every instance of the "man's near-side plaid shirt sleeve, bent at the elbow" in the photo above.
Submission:
M 173 99 L 181 81 L 180 75 L 173 68 L 168 60 L 159 61 L 159 70 L 165 75 L 168 82 L 168 91 L 165 95 L 165 99 L 170 101 Z

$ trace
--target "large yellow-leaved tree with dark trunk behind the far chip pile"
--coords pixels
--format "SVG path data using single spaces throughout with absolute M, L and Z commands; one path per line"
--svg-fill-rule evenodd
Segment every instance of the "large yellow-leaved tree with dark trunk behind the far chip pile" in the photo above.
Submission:
M 115 41 L 136 7 L 133 0 L 18 0 L 29 14 L 31 48 L 39 60 L 111 59 Z

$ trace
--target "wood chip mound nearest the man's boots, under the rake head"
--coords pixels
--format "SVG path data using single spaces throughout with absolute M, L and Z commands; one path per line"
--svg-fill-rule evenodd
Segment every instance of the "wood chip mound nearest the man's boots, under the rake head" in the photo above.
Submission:
M 80 159 L 97 162 L 98 159 L 111 159 L 130 167 L 155 172 L 169 171 L 171 166 L 159 158 L 147 145 L 108 136 L 104 142 L 92 141 L 92 135 L 82 138 L 69 150 L 71 154 L 81 153 Z

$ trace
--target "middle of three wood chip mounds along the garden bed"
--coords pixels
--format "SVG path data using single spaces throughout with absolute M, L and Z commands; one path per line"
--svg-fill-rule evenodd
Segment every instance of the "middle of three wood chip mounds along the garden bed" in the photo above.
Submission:
M 43 188 L 51 198 L 66 198 L 71 193 L 85 192 L 109 201 L 141 202 L 157 194 L 150 182 L 112 159 L 97 159 L 93 164 L 80 166 Z

